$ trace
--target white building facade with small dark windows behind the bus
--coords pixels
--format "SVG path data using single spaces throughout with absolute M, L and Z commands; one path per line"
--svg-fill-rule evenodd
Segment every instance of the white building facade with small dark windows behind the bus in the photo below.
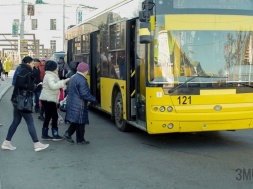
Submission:
M 36 57 L 64 51 L 64 32 L 76 25 L 85 10 L 78 5 L 24 4 L 24 39 L 28 40 L 28 54 Z M 21 4 L 0 5 L 0 56 L 17 54 L 21 24 Z

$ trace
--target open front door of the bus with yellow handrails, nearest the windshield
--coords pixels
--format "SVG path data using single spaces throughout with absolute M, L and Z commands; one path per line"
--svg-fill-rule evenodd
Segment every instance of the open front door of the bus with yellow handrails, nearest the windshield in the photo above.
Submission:
M 127 86 L 129 86 L 127 94 L 128 104 L 128 120 L 131 120 L 131 124 L 136 127 L 145 130 L 146 129 L 146 107 L 145 107 L 145 69 L 143 66 L 143 59 L 140 57 L 140 49 L 144 46 L 140 46 L 139 41 L 138 21 L 136 19 L 127 21 Z M 144 93 L 144 94 L 143 94 Z

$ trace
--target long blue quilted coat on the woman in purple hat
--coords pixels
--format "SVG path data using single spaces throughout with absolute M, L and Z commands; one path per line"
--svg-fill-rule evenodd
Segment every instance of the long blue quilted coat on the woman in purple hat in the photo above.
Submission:
M 68 83 L 65 120 L 70 123 L 89 124 L 87 102 L 95 102 L 86 78 L 77 72 Z

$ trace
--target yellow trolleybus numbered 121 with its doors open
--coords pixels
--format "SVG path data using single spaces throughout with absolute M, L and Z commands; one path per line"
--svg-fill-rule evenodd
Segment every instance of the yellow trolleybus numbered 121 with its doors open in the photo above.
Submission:
M 66 31 L 119 130 L 251 129 L 252 0 L 124 0 Z

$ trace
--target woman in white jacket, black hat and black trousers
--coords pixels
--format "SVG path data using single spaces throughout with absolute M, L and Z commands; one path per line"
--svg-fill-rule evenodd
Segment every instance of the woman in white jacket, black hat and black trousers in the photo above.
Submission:
M 58 77 L 58 66 L 54 60 L 48 60 L 45 64 L 45 77 L 42 84 L 40 100 L 45 109 L 45 120 L 42 128 L 42 140 L 62 140 L 58 134 L 58 104 L 60 89 L 66 88 L 68 79 L 60 80 Z M 52 135 L 48 135 L 49 122 L 52 119 Z

